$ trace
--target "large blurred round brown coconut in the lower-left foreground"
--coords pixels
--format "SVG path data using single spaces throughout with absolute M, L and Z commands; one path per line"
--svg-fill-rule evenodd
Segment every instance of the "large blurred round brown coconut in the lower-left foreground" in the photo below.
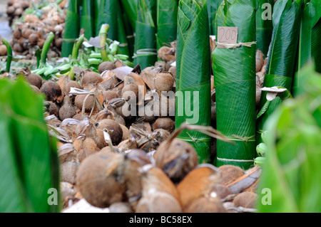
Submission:
M 97 153 L 81 163 L 76 185 L 89 204 L 101 208 L 126 201 L 126 185 L 118 181 L 117 167 L 123 155 L 111 152 Z

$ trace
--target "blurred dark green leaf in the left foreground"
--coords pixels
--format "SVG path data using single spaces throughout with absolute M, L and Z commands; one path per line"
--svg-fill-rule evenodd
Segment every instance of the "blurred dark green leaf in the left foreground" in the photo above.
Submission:
M 0 212 L 58 212 L 58 155 L 43 115 L 42 95 L 23 78 L 0 80 Z M 56 189 L 58 204 L 50 205 Z M 50 192 L 50 193 L 49 193 Z

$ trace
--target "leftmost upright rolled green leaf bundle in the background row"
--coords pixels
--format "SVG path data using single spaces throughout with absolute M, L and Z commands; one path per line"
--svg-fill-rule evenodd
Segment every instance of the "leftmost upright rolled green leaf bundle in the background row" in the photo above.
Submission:
M 73 51 L 73 43 L 78 38 L 80 31 L 80 18 L 77 0 L 69 0 L 66 12 L 65 30 L 61 46 L 61 57 L 68 58 Z

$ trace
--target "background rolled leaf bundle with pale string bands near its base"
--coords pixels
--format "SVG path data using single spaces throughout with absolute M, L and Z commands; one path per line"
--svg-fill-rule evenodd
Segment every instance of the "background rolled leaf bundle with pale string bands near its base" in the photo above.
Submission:
M 141 65 L 144 69 L 155 64 L 156 50 L 156 25 L 153 21 L 153 1 L 138 0 L 138 19 L 135 30 L 134 64 Z

